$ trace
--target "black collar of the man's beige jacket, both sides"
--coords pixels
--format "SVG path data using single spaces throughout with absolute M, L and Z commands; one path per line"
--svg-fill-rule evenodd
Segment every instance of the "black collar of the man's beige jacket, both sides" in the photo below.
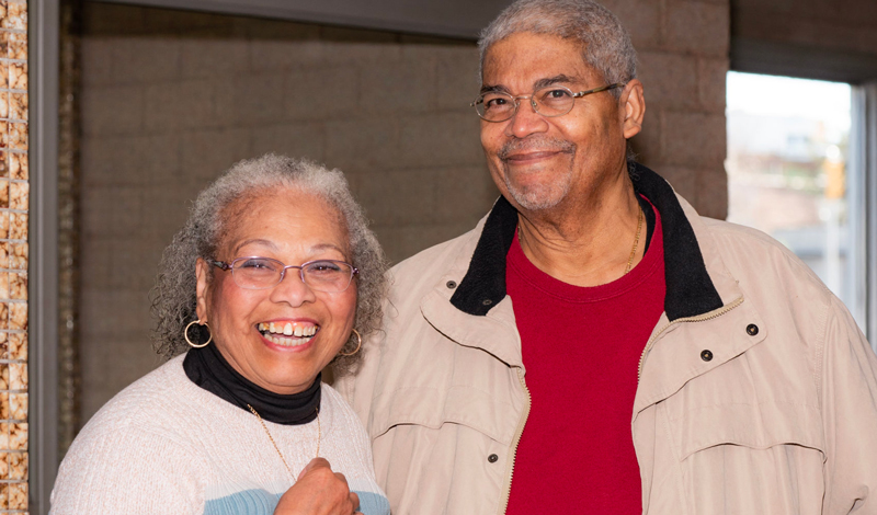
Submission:
M 634 190 L 651 201 L 661 214 L 668 319 L 694 317 L 720 308 L 721 297 L 709 278 L 694 229 L 673 188 L 639 163 L 631 178 Z M 451 297 L 451 304 L 457 309 L 485 316 L 505 297 L 505 254 L 516 227 L 517 211 L 500 197 L 485 222 L 469 270 Z

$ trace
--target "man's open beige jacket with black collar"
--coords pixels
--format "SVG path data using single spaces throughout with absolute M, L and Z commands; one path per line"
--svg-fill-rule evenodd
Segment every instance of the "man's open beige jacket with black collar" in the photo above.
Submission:
M 877 514 L 877 358 L 847 310 L 774 240 L 701 218 L 638 174 L 668 271 L 631 411 L 643 513 Z M 526 368 L 504 293 L 515 225 L 500 199 L 474 231 L 396 266 L 385 333 L 339 385 L 396 515 L 502 514 L 526 466 Z

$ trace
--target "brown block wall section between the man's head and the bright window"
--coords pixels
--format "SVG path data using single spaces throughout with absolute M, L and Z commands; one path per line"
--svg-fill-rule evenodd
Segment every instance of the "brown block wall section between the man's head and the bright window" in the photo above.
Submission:
M 728 214 L 725 76 L 728 0 L 613 0 L 639 52 L 646 122 L 639 160 L 706 216 Z

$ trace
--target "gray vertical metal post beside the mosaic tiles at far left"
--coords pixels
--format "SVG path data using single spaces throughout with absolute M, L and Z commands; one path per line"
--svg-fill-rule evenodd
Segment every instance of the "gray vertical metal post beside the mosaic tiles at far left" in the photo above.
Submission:
M 31 0 L 29 11 L 29 511 L 42 515 L 58 468 L 59 0 Z

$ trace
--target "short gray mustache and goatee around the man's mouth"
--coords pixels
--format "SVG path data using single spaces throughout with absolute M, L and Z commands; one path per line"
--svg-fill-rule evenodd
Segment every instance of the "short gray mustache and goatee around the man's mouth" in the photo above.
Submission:
M 551 181 L 549 184 L 536 188 L 519 190 L 512 184 L 505 158 L 512 152 L 523 149 L 560 150 L 568 153 L 570 160 L 572 160 L 572 156 L 576 154 L 576 145 L 563 139 L 548 137 L 514 139 L 503 145 L 499 152 L 500 160 L 505 169 L 503 173 L 505 190 L 517 205 L 529 211 L 550 209 L 557 206 L 567 196 L 572 186 L 572 163 L 570 162 L 570 168 L 565 176 L 558 176 L 556 181 Z

